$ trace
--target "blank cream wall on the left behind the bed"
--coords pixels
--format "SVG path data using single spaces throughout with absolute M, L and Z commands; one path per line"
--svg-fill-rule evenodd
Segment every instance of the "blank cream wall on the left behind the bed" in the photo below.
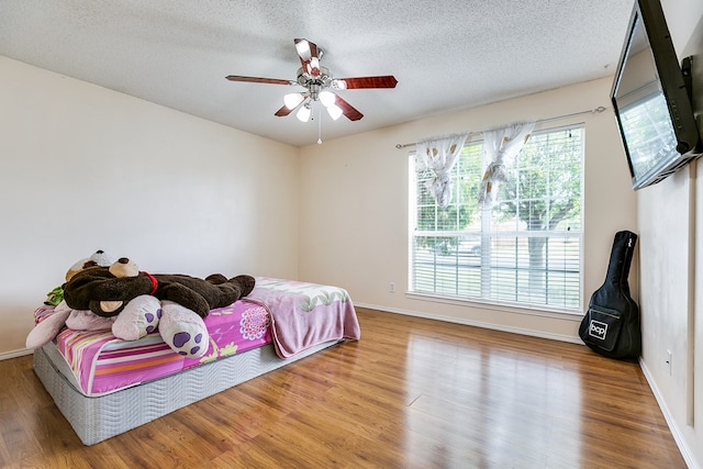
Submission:
M 0 56 L 0 354 L 96 249 L 298 276 L 299 149 Z

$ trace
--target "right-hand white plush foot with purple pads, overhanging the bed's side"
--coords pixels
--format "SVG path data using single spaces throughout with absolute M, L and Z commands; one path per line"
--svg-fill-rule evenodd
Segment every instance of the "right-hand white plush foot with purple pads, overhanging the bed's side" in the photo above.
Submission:
M 171 301 L 161 302 L 161 338 L 179 355 L 200 358 L 208 351 L 210 334 L 202 317 Z

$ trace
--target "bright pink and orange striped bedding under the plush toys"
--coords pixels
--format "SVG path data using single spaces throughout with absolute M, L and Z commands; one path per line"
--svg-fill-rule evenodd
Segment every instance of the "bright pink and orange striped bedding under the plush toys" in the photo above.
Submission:
M 56 345 L 80 391 L 98 397 L 271 343 L 268 309 L 246 298 L 212 310 L 204 322 L 210 348 L 201 358 L 175 354 L 158 333 L 127 342 L 110 331 L 65 328 Z

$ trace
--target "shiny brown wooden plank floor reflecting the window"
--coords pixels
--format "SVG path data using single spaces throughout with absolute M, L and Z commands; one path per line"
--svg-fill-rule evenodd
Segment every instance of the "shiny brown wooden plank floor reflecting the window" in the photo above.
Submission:
M 684 468 L 636 362 L 358 309 L 361 340 L 83 446 L 0 361 L 0 467 Z

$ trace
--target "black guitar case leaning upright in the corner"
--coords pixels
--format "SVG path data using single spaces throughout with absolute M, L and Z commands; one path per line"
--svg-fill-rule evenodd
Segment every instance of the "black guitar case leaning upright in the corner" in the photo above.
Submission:
M 605 282 L 591 295 L 579 327 L 583 343 L 610 358 L 638 358 L 641 349 L 639 308 L 627 282 L 635 243 L 635 233 L 615 234 Z

